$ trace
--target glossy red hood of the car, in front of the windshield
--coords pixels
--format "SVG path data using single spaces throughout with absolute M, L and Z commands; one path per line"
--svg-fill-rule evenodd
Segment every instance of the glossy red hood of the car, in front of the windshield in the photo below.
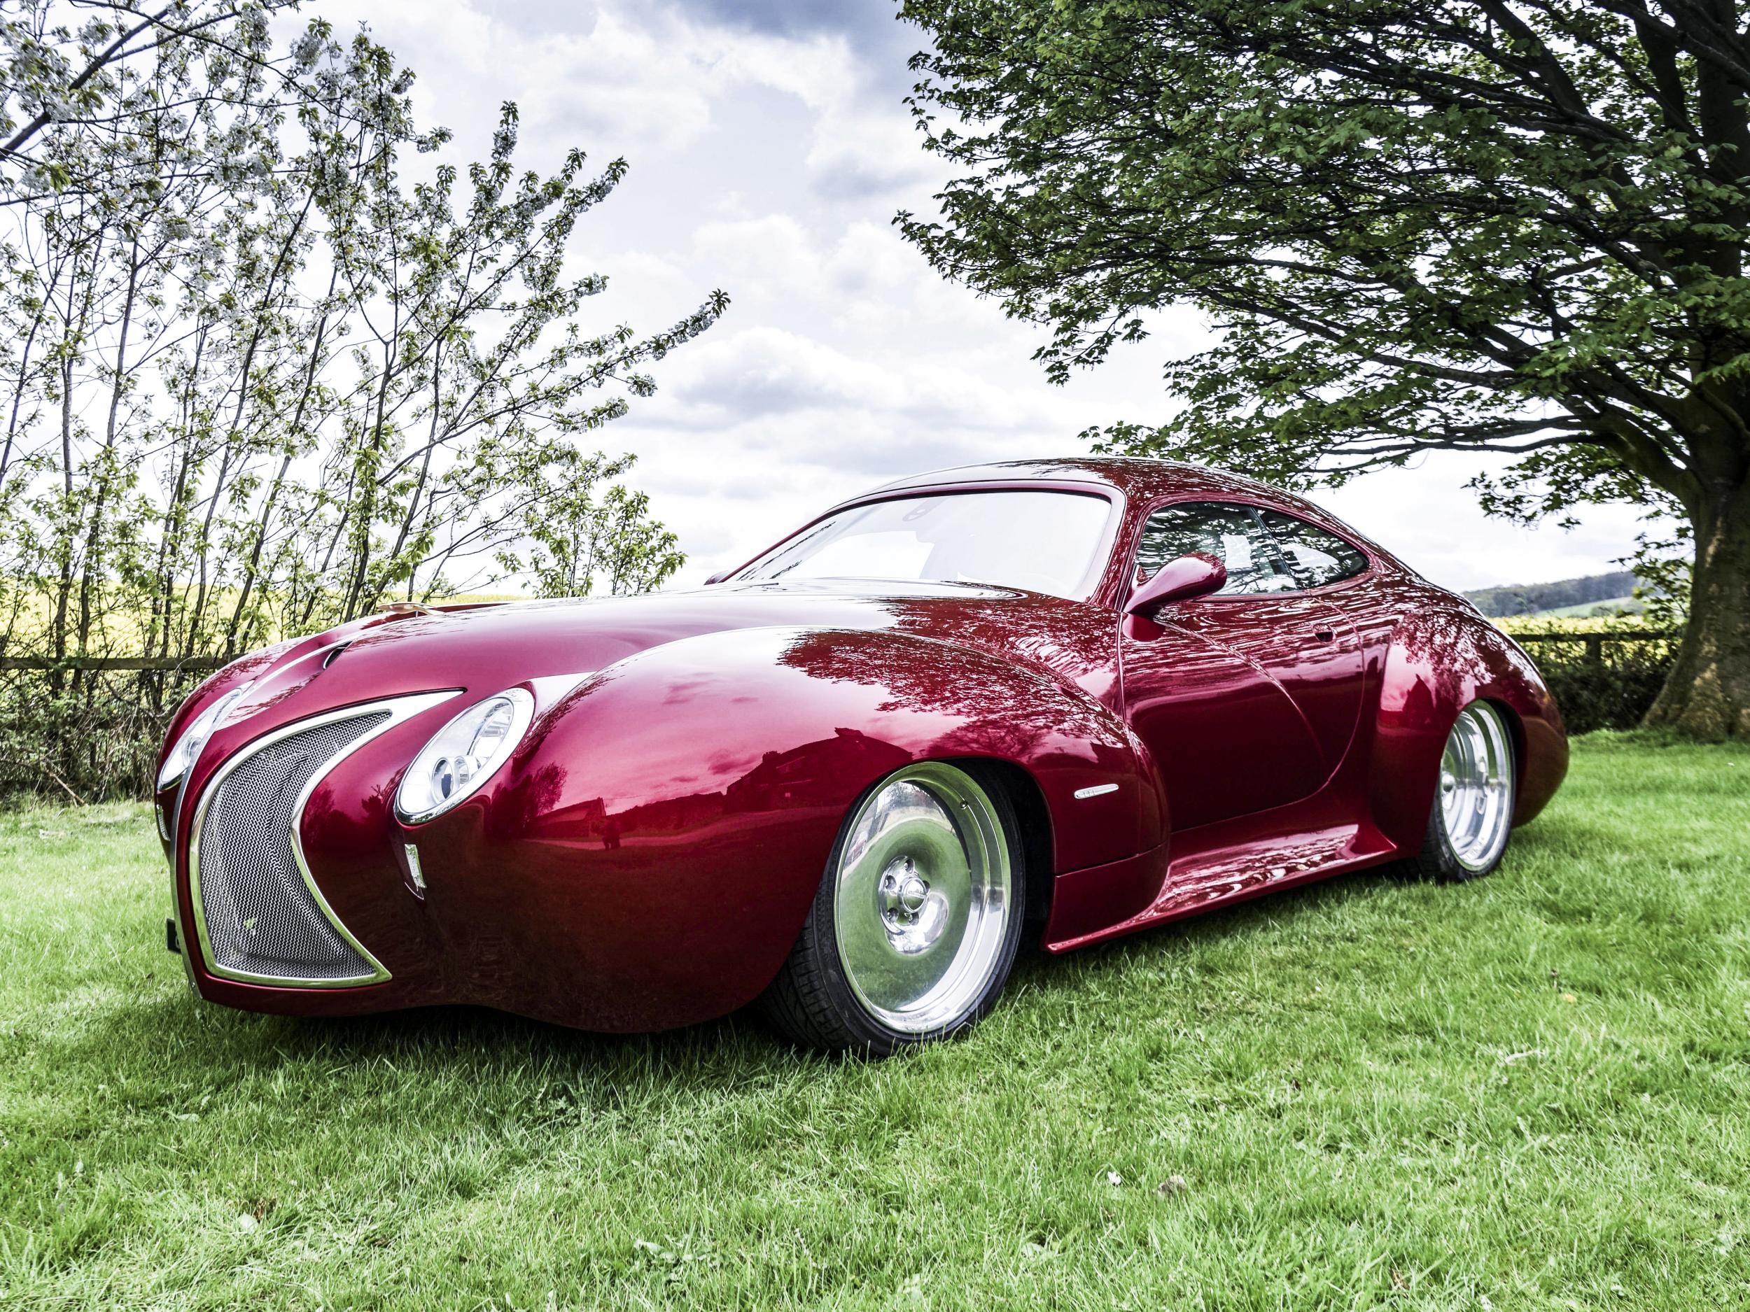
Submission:
M 816 579 L 462 605 L 371 616 L 262 653 L 248 672 L 248 694 L 228 721 L 268 728 L 404 693 L 495 693 L 530 679 L 595 673 L 667 642 L 749 628 L 896 630 L 1087 686 L 1090 673 L 1110 668 L 1111 621 L 1085 604 L 1008 588 Z

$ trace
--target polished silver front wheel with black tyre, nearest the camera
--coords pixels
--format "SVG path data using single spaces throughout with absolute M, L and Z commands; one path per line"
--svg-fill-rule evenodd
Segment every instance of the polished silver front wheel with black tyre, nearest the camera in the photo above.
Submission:
M 798 1043 L 880 1057 L 975 1023 L 1015 962 L 1022 861 L 1015 810 L 984 771 L 887 775 L 845 817 L 766 1015 Z

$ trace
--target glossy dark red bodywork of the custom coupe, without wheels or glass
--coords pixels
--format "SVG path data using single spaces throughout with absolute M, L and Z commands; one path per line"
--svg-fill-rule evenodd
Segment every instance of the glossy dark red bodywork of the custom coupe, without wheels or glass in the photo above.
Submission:
M 856 500 L 994 486 L 1113 504 L 1087 602 L 728 583 L 374 616 L 236 661 L 189 698 L 170 740 L 254 686 L 158 799 L 177 938 L 191 946 L 191 799 L 238 749 L 336 707 L 462 693 L 346 756 L 303 812 L 310 876 L 390 978 L 262 987 L 222 978 L 194 946 L 196 988 L 296 1015 L 472 1002 L 595 1030 L 718 1016 L 779 971 L 847 812 L 917 759 L 982 757 L 1008 773 L 1054 952 L 1416 852 L 1446 735 L 1475 698 L 1507 712 L 1514 820 L 1561 784 L 1566 740 L 1526 654 L 1295 497 L 1185 465 L 1062 460 Z M 1370 565 L 1323 590 L 1204 597 L 1162 623 L 1125 616 L 1144 516 L 1199 499 L 1288 511 Z M 581 672 L 537 705 L 480 792 L 425 824 L 397 820 L 401 771 L 469 698 L 518 684 L 539 696 L 551 684 L 530 680 Z

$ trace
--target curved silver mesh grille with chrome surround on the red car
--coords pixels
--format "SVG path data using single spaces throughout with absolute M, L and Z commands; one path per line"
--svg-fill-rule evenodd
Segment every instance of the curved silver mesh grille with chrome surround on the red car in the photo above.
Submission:
M 310 875 L 304 806 L 346 756 L 452 696 L 424 693 L 296 721 L 242 747 L 208 780 L 189 833 L 189 901 L 212 974 L 294 988 L 390 978 Z

